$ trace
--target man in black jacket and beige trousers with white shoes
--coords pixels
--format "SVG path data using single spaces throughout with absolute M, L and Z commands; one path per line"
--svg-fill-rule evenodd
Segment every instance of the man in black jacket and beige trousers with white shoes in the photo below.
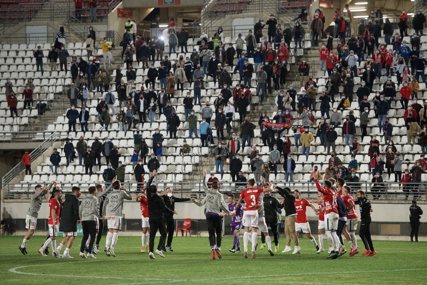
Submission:
M 285 187 L 280 188 L 276 185 L 273 185 L 274 191 L 278 192 L 285 200 L 282 202 L 282 206 L 285 209 L 285 235 L 286 235 L 286 247 L 282 253 L 287 253 L 291 251 L 291 237 L 294 239 L 294 253 L 299 251 L 299 240 L 295 232 L 295 220 L 296 220 L 296 210 L 295 210 L 295 196 L 291 194 L 291 188 Z M 298 251 L 296 253 L 298 253 Z

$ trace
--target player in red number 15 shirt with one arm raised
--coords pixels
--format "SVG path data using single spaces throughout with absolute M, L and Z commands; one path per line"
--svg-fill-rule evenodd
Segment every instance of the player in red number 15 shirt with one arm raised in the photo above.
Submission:
M 319 180 L 314 179 L 316 182 L 317 191 L 323 194 L 325 201 L 325 232 L 328 237 L 329 244 L 335 248 L 335 252 L 331 252 L 327 257 L 328 259 L 336 259 L 339 257 L 339 242 L 336 229 L 338 229 L 338 209 L 336 208 L 336 193 L 331 189 L 332 183 L 329 180 L 323 182 L 323 187 L 320 186 Z M 317 209 L 319 211 L 319 209 Z M 332 234 L 333 233 L 333 234 Z

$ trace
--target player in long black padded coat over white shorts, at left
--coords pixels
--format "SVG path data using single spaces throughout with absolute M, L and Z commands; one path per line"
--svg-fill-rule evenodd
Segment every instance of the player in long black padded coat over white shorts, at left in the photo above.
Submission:
M 65 194 L 65 202 L 62 204 L 61 220 L 59 222 L 59 231 L 64 232 L 65 237 L 56 247 L 56 256 L 59 256 L 61 248 L 67 243 L 62 255 L 63 258 L 72 258 L 68 253 L 77 236 L 77 222 L 80 220 L 78 198 L 81 195 L 80 188 L 73 186 L 71 191 L 71 194 Z

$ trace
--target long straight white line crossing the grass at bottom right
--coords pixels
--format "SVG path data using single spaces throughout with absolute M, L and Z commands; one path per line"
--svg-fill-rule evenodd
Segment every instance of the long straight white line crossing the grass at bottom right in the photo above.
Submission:
M 310 272 L 310 273 L 288 273 L 288 274 L 272 274 L 272 275 L 258 275 L 258 276 L 245 276 L 245 278 L 263 278 L 263 277 L 284 277 L 284 276 L 301 276 L 301 275 L 318 275 L 318 274 L 342 274 L 342 273 L 379 273 L 379 272 L 398 272 L 398 271 L 413 271 L 425 270 L 424 268 L 415 269 L 394 269 L 394 270 L 368 270 L 368 271 L 338 271 L 338 272 Z M 153 282 L 138 282 L 138 283 L 123 283 L 119 285 L 137 285 L 137 284 L 154 284 L 154 283 L 176 283 L 176 282 L 201 282 L 201 281 L 214 281 L 214 280 L 229 280 L 240 279 L 241 277 L 220 277 L 220 278 L 206 278 L 206 279 L 170 279 L 169 281 L 153 281 Z

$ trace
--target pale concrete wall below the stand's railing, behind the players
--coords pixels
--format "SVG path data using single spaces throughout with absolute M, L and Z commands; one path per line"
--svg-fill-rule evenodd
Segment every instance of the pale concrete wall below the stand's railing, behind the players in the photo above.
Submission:
M 135 194 L 133 194 L 135 198 Z M 39 212 L 40 218 L 47 218 L 49 215 L 48 204 L 44 203 L 41 205 Z M 14 200 L 9 202 L 3 200 L 1 209 L 2 217 L 3 214 L 7 213 L 12 218 L 25 218 L 26 212 L 28 209 L 28 201 L 18 201 Z M 409 221 L 409 206 L 410 203 L 405 204 L 384 204 L 384 203 L 374 203 L 372 204 L 372 209 L 374 212 L 371 213 L 372 221 L 375 222 L 408 222 Z M 421 209 L 427 211 L 427 206 L 421 204 Z M 359 208 L 357 206 L 357 208 Z M 203 213 L 203 207 L 196 206 L 196 204 L 191 202 L 184 203 L 175 203 L 175 210 L 178 211 L 178 215 L 175 215 L 177 219 L 192 218 L 192 219 L 204 219 L 205 215 Z M 357 209 L 357 213 L 359 209 Z M 139 203 L 133 200 L 132 202 L 124 203 L 123 214 L 127 219 L 138 219 L 141 217 L 141 212 L 139 208 Z M 309 220 L 317 220 L 318 217 L 314 214 L 313 210 L 307 208 L 307 216 Z M 427 215 L 421 216 L 421 222 L 427 222 Z

